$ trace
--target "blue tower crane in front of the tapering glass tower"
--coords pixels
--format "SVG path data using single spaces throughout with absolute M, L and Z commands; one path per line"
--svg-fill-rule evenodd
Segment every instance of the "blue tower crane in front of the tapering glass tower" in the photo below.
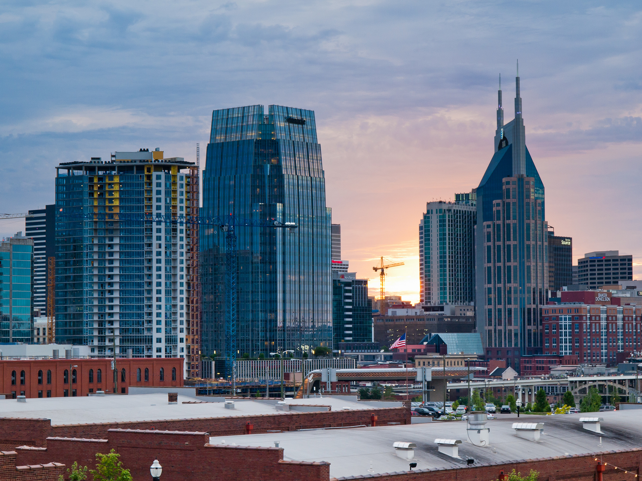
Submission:
M 62 211 L 62 209 L 60 209 Z M 236 313 L 237 313 L 237 263 L 236 263 L 236 232 L 238 227 L 273 227 L 286 228 L 288 230 L 297 228 L 293 222 L 277 221 L 276 219 L 243 219 L 238 215 L 218 215 L 216 217 L 202 217 L 198 215 L 145 215 L 141 214 L 104 214 L 104 213 L 78 213 L 78 214 L 61 214 L 56 212 L 59 217 L 71 217 L 82 221 L 83 219 L 96 219 L 107 215 L 113 216 L 110 219 L 116 221 L 134 221 L 134 222 L 163 222 L 163 223 L 186 223 L 204 226 L 218 226 L 222 232 L 225 232 L 225 371 L 232 381 L 232 391 L 236 394 L 236 350 L 237 350 L 237 332 L 236 332 Z M 383 257 L 382 257 L 383 259 Z M 403 264 L 403 263 L 402 263 Z M 395 264 L 396 266 L 397 264 Z M 389 267 L 389 266 L 386 266 Z

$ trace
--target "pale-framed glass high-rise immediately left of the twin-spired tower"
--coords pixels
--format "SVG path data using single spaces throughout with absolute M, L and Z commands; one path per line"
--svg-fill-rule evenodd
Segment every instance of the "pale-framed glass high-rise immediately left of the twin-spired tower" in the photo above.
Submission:
M 474 305 L 476 207 L 428 202 L 419 221 L 419 301 Z

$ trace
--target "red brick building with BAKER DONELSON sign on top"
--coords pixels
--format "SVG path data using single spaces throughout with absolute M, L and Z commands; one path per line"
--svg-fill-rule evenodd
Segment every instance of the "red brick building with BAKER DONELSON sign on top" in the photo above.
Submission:
M 562 292 L 562 304 L 541 308 L 544 355 L 614 365 L 641 350 L 642 306 L 626 301 L 611 292 Z

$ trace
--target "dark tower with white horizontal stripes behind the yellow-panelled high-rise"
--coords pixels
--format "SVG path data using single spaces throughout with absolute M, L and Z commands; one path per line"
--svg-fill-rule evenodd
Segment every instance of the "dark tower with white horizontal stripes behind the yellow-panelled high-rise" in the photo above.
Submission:
M 29 211 L 24 221 L 25 235 L 33 239 L 33 309 L 47 316 L 49 269 L 47 259 L 55 256 L 56 205 Z

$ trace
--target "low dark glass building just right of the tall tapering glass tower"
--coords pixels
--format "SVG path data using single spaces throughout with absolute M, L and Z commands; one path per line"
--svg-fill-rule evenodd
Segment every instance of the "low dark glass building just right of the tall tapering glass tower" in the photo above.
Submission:
M 334 350 L 340 342 L 372 342 L 372 301 L 368 280 L 356 273 L 332 273 Z

